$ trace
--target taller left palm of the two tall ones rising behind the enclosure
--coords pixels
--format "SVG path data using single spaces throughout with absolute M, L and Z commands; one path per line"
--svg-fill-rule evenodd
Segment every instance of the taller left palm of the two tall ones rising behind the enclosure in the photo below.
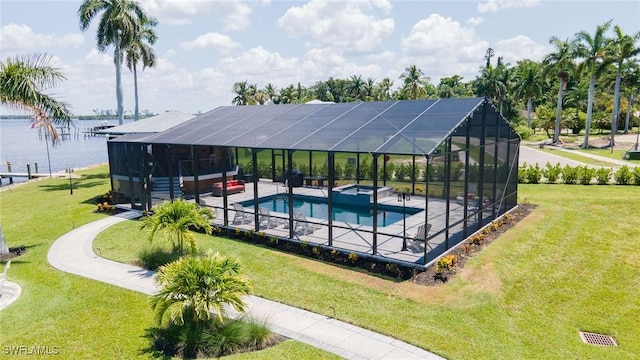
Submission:
M 126 49 L 138 36 L 141 24 L 149 18 L 133 0 L 84 0 L 78 9 L 80 29 L 86 31 L 91 21 L 102 13 L 96 34 L 98 50 L 105 52 L 113 45 L 113 62 L 116 66 L 116 101 L 118 105 L 118 122 L 124 122 L 122 106 L 122 50 Z

